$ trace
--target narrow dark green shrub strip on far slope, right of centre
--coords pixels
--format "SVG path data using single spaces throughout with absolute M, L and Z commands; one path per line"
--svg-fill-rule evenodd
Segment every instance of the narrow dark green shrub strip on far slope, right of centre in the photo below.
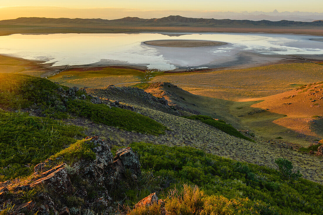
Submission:
M 215 120 L 212 117 L 203 116 L 203 115 L 193 115 L 193 116 L 183 116 L 183 117 L 190 120 L 200 120 L 205 124 L 211 125 L 214 128 L 217 128 L 227 134 L 230 134 L 232 136 L 245 139 L 251 142 L 255 142 L 253 139 L 246 137 L 245 135 L 238 132 L 232 125 L 226 124 L 223 120 Z

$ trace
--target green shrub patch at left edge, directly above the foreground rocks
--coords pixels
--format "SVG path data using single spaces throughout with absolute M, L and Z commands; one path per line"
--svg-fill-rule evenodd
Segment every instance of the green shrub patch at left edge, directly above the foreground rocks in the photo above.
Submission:
M 29 175 L 34 165 L 84 136 L 81 127 L 20 112 L 1 111 L 0 128 L 0 181 Z

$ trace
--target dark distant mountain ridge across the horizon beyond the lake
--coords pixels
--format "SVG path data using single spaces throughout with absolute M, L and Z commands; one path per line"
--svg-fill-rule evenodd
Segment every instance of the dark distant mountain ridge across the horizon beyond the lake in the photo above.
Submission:
M 20 17 L 17 19 L 9 19 L 0 21 L 2 25 L 66 25 L 66 24 L 85 24 L 85 25 L 120 25 L 120 26 L 323 26 L 322 20 L 312 22 L 299 21 L 251 21 L 251 20 L 231 20 L 231 19 L 206 19 L 206 18 L 189 18 L 180 15 L 170 15 L 162 18 L 142 19 L 139 17 L 124 17 L 121 19 L 81 19 L 81 18 L 44 18 L 44 17 Z

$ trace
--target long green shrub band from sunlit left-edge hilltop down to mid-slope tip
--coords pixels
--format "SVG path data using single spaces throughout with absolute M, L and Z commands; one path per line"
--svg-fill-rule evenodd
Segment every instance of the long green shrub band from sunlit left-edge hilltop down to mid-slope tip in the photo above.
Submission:
M 105 104 L 93 104 L 85 92 L 78 91 L 75 96 L 62 97 L 61 86 L 43 78 L 20 74 L 0 74 L 0 107 L 14 109 L 33 107 L 40 109 L 44 116 L 64 119 L 71 114 L 87 117 L 93 122 L 115 126 L 127 131 L 149 134 L 163 134 L 165 127 L 149 117 L 136 112 Z M 77 97 L 86 94 L 86 100 Z

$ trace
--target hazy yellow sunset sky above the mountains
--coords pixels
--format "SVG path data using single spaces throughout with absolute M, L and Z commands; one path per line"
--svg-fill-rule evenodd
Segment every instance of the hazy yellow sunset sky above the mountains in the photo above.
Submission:
M 203 17 L 212 11 L 323 12 L 322 0 L 0 0 L 0 20 L 18 17 L 115 19 L 167 15 Z

